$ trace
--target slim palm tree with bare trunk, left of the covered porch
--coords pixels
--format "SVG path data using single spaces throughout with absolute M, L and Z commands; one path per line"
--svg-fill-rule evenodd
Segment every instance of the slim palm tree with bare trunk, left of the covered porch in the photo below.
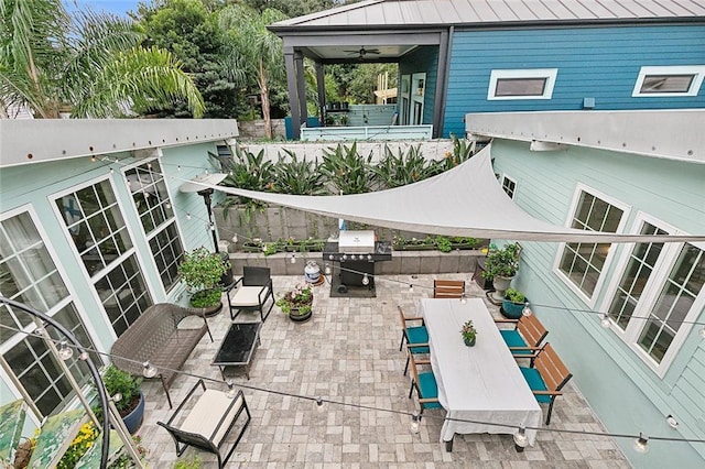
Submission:
M 281 39 L 267 26 L 285 19 L 279 10 L 265 9 L 259 14 L 241 3 L 230 4 L 220 11 L 220 26 L 226 32 L 226 43 L 231 46 L 224 64 L 234 80 L 243 83 L 247 77 L 257 80 L 268 139 L 272 138 L 270 85 L 284 77 L 284 55 Z

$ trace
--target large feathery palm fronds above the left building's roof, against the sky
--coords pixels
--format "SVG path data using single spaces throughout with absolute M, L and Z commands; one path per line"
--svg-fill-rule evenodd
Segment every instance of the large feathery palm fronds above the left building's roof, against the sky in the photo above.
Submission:
M 203 98 L 172 56 L 143 48 L 129 20 L 91 11 L 69 17 L 61 0 L 0 0 L 0 117 L 24 106 L 35 118 L 122 117 L 130 109 Z

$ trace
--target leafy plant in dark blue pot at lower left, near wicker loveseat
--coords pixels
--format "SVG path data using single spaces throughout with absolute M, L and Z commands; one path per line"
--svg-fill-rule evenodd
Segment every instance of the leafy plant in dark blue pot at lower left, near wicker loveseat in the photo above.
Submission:
M 102 383 L 109 397 L 115 400 L 124 426 L 130 434 L 138 430 L 144 416 L 144 394 L 142 394 L 142 378 L 134 377 L 115 366 L 109 366 L 102 373 Z M 118 397 L 119 394 L 119 399 Z

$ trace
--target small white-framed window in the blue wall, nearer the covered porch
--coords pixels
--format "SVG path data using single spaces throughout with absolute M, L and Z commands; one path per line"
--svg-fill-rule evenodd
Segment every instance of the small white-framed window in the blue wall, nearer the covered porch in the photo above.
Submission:
M 487 99 L 551 99 L 557 68 L 492 70 Z

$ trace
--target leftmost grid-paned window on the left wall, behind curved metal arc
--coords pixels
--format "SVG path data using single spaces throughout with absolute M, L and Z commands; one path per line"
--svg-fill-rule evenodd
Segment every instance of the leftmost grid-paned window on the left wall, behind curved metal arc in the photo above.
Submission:
M 0 220 L 0 291 L 2 296 L 58 321 L 83 347 L 96 349 L 29 211 Z M 30 407 L 37 419 L 63 408 L 75 393 L 47 343 L 34 334 L 33 316 L 21 308 L 1 305 L 0 325 L 0 363 L 4 372 L 13 377 L 14 391 L 30 397 Z M 51 326 L 45 329 L 54 341 L 65 338 Z M 101 363 L 96 353 L 89 355 L 94 363 Z M 77 353 L 64 364 L 78 384 L 90 381 L 88 367 Z

